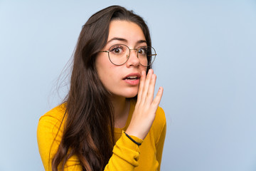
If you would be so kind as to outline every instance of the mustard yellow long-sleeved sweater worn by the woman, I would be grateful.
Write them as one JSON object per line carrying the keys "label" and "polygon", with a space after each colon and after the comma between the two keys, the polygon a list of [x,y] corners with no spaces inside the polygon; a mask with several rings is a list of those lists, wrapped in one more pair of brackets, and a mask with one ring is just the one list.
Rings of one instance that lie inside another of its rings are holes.
{"label": "mustard yellow long-sleeved sweater worn by the woman", "polygon": [[[160,107],[156,110],[156,118],[144,140],[131,136],[137,142],[142,142],[142,145],[138,146],[124,134],[124,130],[127,130],[131,121],[134,107],[135,102],[131,101],[129,117],[124,128],[114,128],[114,135],[117,142],[114,145],[113,155],[106,165],[105,171],[160,170],[161,155],[166,135],[164,110]],[[58,149],[63,135],[65,124],[60,126],[60,123],[63,120],[64,113],[65,105],[59,105],[43,115],[38,123],[38,149],[43,166],[47,171],[51,170],[53,156]],[[58,132],[59,128],[60,130]],[[70,157],[65,164],[64,170],[82,171],[78,157],[75,155]]]}

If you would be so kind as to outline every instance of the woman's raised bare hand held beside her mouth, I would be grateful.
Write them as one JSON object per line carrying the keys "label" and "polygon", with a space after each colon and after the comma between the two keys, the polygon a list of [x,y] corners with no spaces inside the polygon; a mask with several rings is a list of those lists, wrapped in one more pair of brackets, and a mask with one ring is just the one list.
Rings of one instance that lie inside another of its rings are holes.
{"label": "woman's raised bare hand held beside her mouth", "polygon": [[160,87],[156,94],[156,98],[154,98],[155,84],[156,74],[154,74],[154,71],[150,69],[147,76],[146,72],[142,71],[137,103],[135,105],[131,123],[126,130],[128,135],[134,135],[137,138],[144,140],[147,133],[149,133],[164,91],[164,89]]}

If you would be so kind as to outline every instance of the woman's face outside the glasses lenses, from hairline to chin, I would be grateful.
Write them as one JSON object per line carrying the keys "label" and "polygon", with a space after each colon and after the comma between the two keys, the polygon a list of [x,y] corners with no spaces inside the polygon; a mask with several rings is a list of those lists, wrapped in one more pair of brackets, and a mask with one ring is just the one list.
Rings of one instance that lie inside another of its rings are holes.
{"label": "woman's face outside the glasses lenses, from hairline to chin", "polygon": [[[146,38],[137,24],[130,21],[111,21],[107,44],[102,51],[108,51],[115,44],[124,44],[130,49],[146,46]],[[129,59],[122,66],[111,63],[108,54],[100,52],[96,58],[97,74],[112,95],[133,98],[138,93],[139,77],[146,67],[140,65],[137,51],[130,51]]]}

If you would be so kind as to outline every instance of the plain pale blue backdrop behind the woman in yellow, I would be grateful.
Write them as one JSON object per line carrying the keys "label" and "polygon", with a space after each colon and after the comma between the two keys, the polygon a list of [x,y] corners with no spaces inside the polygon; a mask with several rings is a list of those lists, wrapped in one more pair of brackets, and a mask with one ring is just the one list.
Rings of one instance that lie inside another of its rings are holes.
{"label": "plain pale blue backdrop behind the woman in yellow", "polygon": [[256,170],[256,1],[0,0],[0,170],[43,170],[38,119],[81,27],[119,4],[149,25],[167,134],[162,170]]}

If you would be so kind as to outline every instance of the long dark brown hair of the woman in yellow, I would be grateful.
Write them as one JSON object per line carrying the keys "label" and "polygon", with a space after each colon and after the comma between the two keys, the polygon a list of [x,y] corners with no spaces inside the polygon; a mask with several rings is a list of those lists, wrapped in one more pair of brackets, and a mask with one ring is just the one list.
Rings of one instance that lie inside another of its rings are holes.
{"label": "long dark brown hair of the woman in yellow", "polygon": [[[97,53],[107,43],[110,21],[132,21],[144,33],[151,46],[149,28],[142,17],[122,6],[98,11],[82,26],[75,47],[70,90],[64,103],[67,115],[63,138],[52,161],[53,171],[64,170],[68,159],[76,155],[82,170],[104,170],[114,146],[114,116],[110,93],[102,85],[95,68]],[[147,71],[150,67],[147,68]]]}

